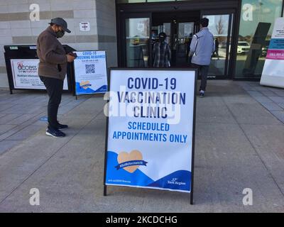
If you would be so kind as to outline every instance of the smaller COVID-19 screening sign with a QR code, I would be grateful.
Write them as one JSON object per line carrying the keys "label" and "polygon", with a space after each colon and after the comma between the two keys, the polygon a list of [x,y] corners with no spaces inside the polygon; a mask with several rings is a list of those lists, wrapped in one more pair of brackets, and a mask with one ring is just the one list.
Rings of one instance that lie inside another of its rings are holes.
{"label": "smaller COVID-19 screening sign with a QR code", "polygon": [[76,51],[75,94],[96,94],[107,92],[106,52]]}

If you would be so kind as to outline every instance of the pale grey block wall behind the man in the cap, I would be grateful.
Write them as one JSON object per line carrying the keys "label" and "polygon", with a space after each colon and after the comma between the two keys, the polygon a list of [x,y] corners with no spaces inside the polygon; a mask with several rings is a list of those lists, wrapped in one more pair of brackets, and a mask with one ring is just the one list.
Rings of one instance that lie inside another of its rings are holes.
{"label": "pale grey block wall behind the man in the cap", "polygon": [[[72,31],[61,43],[75,50],[107,50],[108,66],[117,66],[114,0],[0,0],[0,88],[9,87],[4,45],[35,45],[55,17],[65,18]],[[89,31],[80,31],[81,22],[89,22]]]}

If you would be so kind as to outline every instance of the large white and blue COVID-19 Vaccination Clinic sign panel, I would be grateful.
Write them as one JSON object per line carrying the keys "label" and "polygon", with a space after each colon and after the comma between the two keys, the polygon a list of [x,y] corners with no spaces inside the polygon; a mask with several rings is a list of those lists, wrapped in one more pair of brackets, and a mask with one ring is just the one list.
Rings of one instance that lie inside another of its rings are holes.
{"label": "large white and blue COVID-19 Vaccination Clinic sign panel", "polygon": [[104,185],[192,192],[195,71],[110,70]]}

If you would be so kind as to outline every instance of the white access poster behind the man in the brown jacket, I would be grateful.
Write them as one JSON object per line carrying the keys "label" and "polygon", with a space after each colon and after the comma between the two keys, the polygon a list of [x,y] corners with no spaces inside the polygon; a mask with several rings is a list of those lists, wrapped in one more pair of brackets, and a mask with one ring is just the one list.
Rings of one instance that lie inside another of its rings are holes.
{"label": "white access poster behind the man in the brown jacket", "polygon": [[[38,77],[38,59],[11,59],[13,87],[15,89],[45,89]],[[68,90],[67,76],[63,89]]]}

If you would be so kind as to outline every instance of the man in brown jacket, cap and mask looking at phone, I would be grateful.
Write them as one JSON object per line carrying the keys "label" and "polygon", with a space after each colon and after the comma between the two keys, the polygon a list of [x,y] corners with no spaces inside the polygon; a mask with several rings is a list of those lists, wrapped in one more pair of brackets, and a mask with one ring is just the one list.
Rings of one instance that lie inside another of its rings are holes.
{"label": "man in brown jacket, cap and mask looking at phone", "polygon": [[70,33],[67,22],[62,18],[53,18],[50,26],[40,33],[37,41],[37,54],[40,59],[38,74],[48,92],[48,128],[46,135],[55,138],[65,137],[60,129],[68,128],[58,122],[58,107],[61,102],[63,81],[67,72],[67,62],[74,61],[72,54],[66,55],[62,44],[58,41],[64,33]]}

